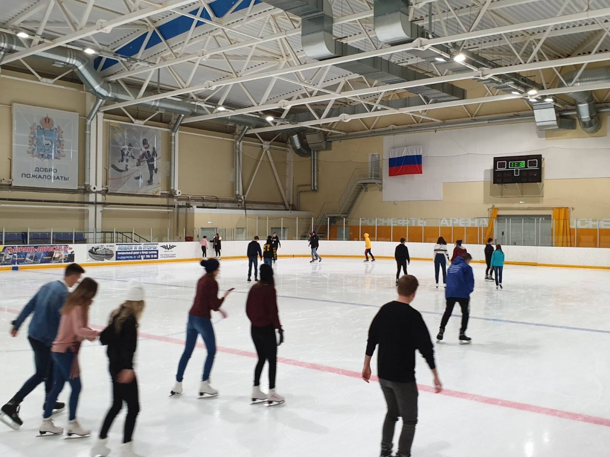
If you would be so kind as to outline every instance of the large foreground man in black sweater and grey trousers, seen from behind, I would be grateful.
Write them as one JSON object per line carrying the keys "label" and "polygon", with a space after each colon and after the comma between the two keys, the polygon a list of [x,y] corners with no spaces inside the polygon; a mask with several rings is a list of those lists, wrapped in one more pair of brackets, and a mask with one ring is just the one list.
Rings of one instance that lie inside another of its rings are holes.
{"label": "large foreground man in black sweater and grey trousers, seen from behind", "polygon": [[422,353],[434,375],[436,392],[442,384],[434,364],[434,347],[422,314],[409,305],[415,298],[417,278],[404,275],[398,281],[398,299],[386,303],[368,329],[367,352],[362,379],[371,378],[371,357],[379,345],[379,384],[386,397],[387,414],[381,438],[381,457],[392,457],[392,439],[398,416],[403,431],[398,440],[396,457],[411,457],[411,445],[417,424],[417,384],[415,383],[415,350]]}

